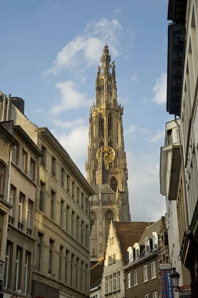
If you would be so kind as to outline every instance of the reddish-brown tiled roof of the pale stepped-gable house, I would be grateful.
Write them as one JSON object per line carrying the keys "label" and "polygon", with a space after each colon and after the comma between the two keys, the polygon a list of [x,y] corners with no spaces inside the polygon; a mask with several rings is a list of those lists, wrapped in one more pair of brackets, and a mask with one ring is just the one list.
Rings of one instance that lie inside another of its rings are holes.
{"label": "reddish-brown tiled roof of the pale stepped-gable house", "polygon": [[127,264],[127,248],[139,242],[149,222],[113,222],[113,224],[120,241],[123,261]]}

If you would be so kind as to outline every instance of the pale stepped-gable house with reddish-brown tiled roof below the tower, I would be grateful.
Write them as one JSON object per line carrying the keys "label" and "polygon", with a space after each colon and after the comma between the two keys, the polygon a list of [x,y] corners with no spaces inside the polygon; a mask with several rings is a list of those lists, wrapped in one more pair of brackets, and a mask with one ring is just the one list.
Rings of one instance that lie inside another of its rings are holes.
{"label": "pale stepped-gable house with reddish-brown tiled roof below the tower", "polygon": [[111,222],[106,246],[101,297],[125,297],[124,271],[127,248],[138,242],[148,222]]}

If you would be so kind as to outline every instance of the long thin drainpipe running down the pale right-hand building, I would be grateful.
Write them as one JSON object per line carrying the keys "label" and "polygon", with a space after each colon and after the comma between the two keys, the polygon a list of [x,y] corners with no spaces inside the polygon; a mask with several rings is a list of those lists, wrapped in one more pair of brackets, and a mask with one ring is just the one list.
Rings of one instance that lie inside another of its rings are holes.
{"label": "long thin drainpipe running down the pale right-hand building", "polygon": [[186,232],[189,234],[189,213],[188,213],[188,204],[187,204],[187,191],[186,191],[186,179],[185,179],[185,167],[184,167],[184,155],[183,155],[183,148],[182,148],[182,142],[181,142],[181,133],[180,133],[180,125],[177,122],[177,118],[175,115],[175,123],[178,127],[179,132],[179,144],[180,144],[180,156],[182,160],[182,180],[183,180],[183,186],[184,186],[184,194],[185,194],[185,209],[186,209]]}

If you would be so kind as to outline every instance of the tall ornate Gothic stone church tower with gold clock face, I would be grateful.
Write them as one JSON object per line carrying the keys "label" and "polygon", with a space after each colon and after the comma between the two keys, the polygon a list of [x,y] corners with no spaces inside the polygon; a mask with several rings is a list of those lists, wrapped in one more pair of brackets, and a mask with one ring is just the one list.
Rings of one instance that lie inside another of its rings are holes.
{"label": "tall ornate Gothic stone church tower with gold clock face", "polygon": [[[96,191],[91,202],[91,260],[105,251],[111,220],[131,220],[128,172],[122,127],[123,107],[117,102],[115,64],[105,44],[96,78],[96,103],[90,109],[87,180]],[[101,150],[102,148],[102,150]]]}

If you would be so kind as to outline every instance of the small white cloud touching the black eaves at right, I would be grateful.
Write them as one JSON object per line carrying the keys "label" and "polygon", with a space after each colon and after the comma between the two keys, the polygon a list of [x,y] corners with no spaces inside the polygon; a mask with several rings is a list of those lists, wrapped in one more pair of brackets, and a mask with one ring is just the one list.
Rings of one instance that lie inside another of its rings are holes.
{"label": "small white cloud touching the black eaves at right", "polygon": [[155,93],[153,101],[158,105],[166,102],[166,85],[167,85],[167,74],[162,73],[160,78],[157,78],[156,84],[153,87]]}

